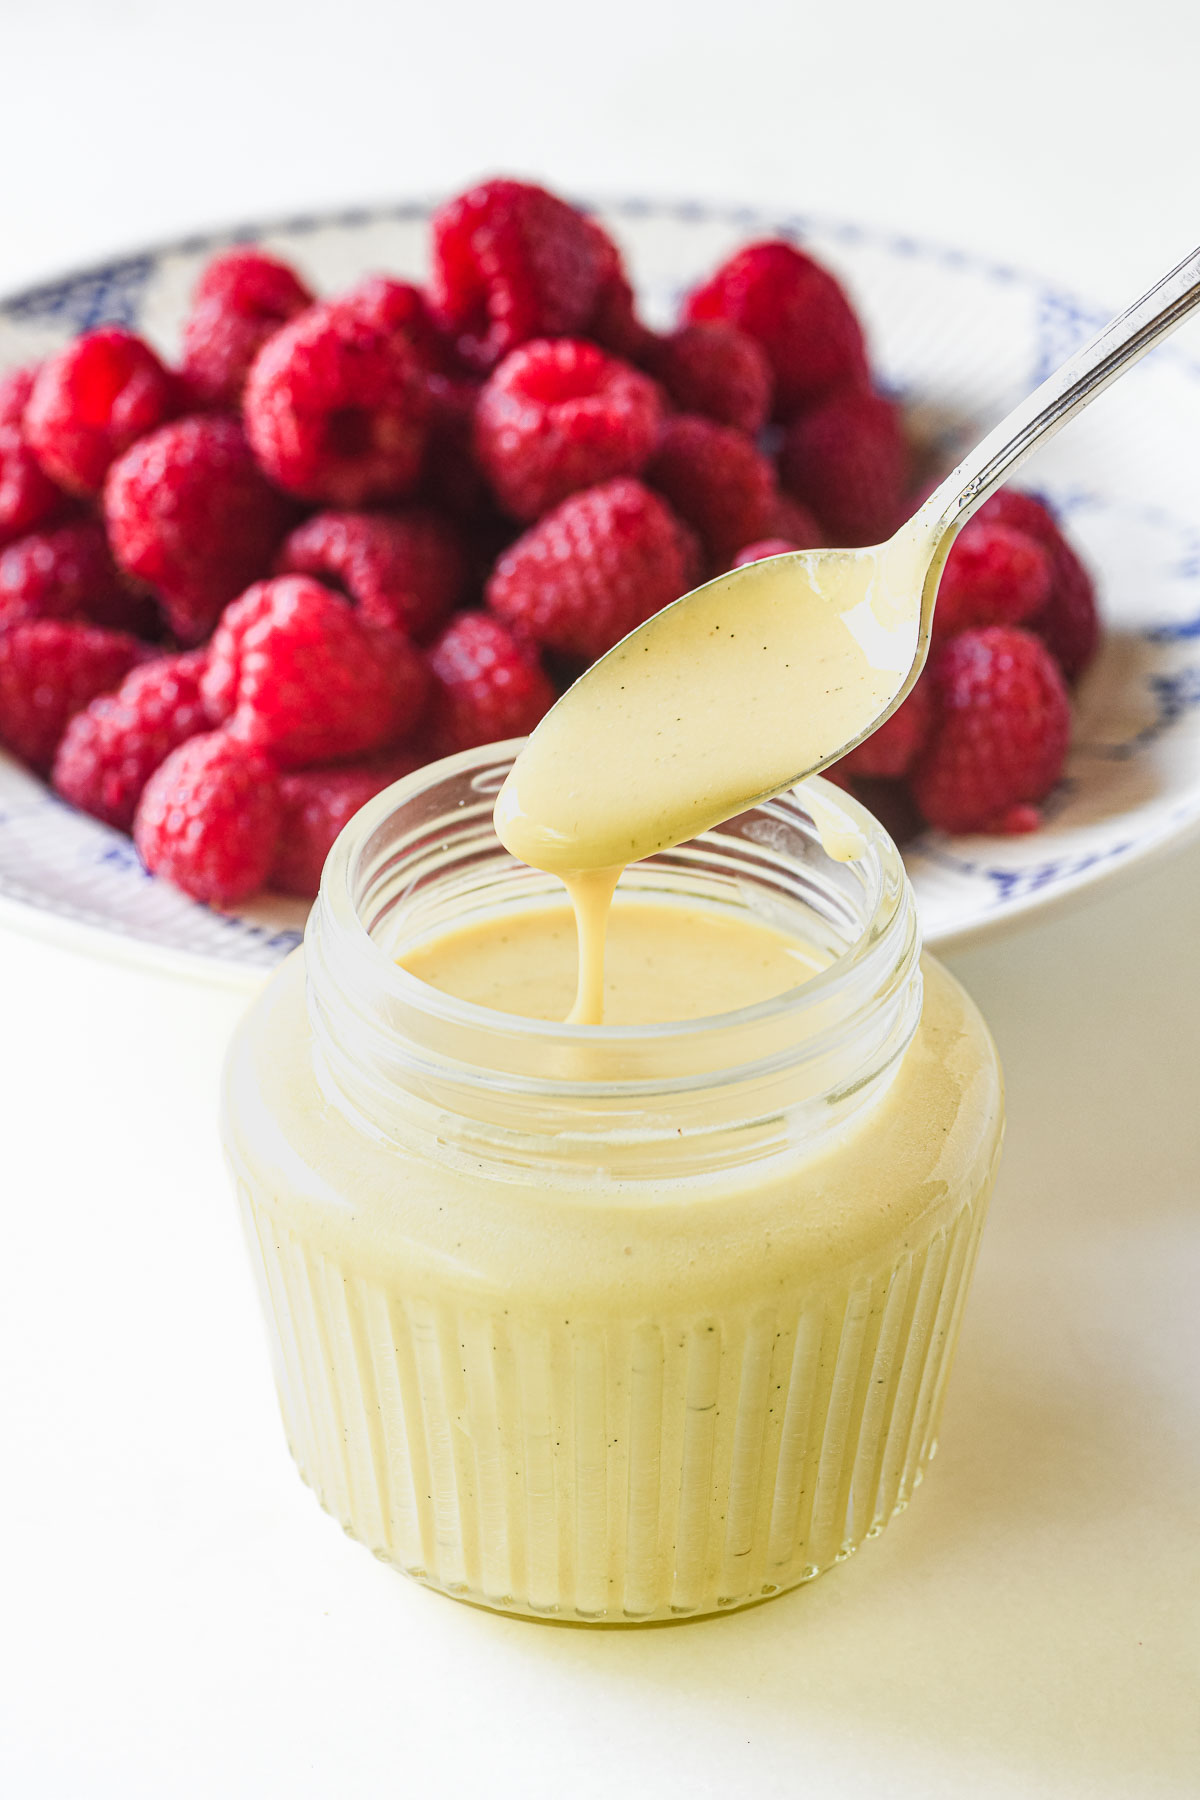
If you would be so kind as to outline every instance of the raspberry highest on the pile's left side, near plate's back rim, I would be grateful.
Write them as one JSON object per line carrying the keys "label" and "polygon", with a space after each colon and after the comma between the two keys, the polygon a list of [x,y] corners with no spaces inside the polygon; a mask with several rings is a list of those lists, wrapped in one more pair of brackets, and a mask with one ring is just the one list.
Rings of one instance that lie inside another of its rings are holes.
{"label": "raspberry highest on the pile's left side, near plate's back rim", "polygon": [[214,256],[184,322],[182,373],[194,403],[237,407],[263,344],[311,304],[295,270],[257,245]]}

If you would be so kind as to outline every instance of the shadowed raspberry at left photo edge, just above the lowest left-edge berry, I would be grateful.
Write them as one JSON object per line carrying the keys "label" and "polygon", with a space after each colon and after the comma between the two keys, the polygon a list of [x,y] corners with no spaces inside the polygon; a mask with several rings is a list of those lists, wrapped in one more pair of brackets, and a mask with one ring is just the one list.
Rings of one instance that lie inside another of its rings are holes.
{"label": "shadowed raspberry at left photo edge, just above the lowest left-edge berry", "polygon": [[0,551],[0,628],[18,619],[90,619],[135,630],[153,608],[121,585],[101,526],[81,518],[31,531]]}

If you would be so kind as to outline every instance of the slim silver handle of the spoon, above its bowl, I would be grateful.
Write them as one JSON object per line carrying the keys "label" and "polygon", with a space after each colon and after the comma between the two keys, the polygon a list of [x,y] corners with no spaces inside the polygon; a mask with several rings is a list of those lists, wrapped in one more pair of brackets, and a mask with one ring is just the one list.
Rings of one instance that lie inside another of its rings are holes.
{"label": "slim silver handle of the spoon, above its bowl", "polygon": [[[954,538],[959,526],[1007,481],[1013,470],[1090,405],[1110,382],[1175,331],[1200,306],[1200,250],[1133,301],[1078,349],[1061,369],[1027,394],[982,443],[954,468],[923,506],[934,531]],[[948,544],[946,544],[948,547]]]}

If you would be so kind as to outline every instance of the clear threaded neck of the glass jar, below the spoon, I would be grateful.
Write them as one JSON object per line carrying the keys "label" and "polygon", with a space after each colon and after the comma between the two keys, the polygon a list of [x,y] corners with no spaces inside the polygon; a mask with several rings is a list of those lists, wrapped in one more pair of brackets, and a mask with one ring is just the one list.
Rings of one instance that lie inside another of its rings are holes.
{"label": "clear threaded neck of the glass jar, below the spoon", "polygon": [[811,797],[864,835],[853,864],[820,850],[804,794],[788,790],[637,866],[666,904],[766,916],[795,905],[784,934],[804,934],[808,909],[829,961],[783,994],[702,1019],[585,1026],[480,1006],[398,961],[405,938],[558,887],[491,828],[522,742],[405,776],[338,837],[306,932],[313,1058],[329,1100],[434,1157],[585,1183],[811,1148],[871,1105],[919,1021],[919,931],[898,850],[826,783]]}

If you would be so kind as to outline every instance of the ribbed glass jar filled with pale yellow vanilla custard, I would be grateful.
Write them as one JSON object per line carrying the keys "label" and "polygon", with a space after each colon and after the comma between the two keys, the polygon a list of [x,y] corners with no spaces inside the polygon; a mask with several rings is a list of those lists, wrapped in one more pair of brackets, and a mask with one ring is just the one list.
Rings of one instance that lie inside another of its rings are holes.
{"label": "ribbed glass jar filled with pale yellow vanilla custard", "polygon": [[396,958],[545,900],[491,830],[516,745],[345,828],[230,1048],[223,1130],[291,1453],[376,1555],[511,1613],[639,1622],[808,1580],[905,1507],[1002,1132],[892,842],[804,788],[633,866],[824,967],[640,1028],[547,1024]]}

